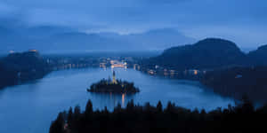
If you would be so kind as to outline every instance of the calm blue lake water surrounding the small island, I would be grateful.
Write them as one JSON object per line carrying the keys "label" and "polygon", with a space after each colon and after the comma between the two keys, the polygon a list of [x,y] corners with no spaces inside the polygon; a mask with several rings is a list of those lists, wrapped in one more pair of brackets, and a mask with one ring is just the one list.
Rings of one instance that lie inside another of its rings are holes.
{"label": "calm blue lake water surrounding the small island", "polygon": [[112,75],[111,69],[101,68],[57,71],[36,82],[0,90],[0,133],[48,133],[59,112],[77,105],[84,109],[88,99],[92,99],[94,109],[107,106],[110,110],[117,103],[125,106],[131,99],[140,105],[156,105],[161,100],[164,106],[172,101],[177,106],[206,110],[234,103],[198,82],[155,77],[133,69],[115,70],[117,78],[134,82],[141,92],[134,96],[86,92],[93,82]]}

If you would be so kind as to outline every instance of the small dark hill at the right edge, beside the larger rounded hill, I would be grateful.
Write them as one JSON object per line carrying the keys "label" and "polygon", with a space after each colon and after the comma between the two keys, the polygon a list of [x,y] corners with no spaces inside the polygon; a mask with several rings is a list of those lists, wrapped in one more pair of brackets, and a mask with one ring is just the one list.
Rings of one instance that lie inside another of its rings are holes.
{"label": "small dark hill at the right edge, beside the larger rounded hill", "polygon": [[267,65],[267,45],[260,46],[255,51],[250,51],[247,56],[257,66]]}

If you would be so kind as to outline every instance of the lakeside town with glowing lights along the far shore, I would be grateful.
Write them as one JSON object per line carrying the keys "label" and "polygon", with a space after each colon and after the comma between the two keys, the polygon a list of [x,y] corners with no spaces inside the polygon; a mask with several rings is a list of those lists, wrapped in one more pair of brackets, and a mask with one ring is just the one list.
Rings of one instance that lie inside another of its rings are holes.
{"label": "lakeside town with glowing lights along the far shore", "polygon": [[46,62],[53,66],[53,70],[62,69],[76,69],[86,67],[100,67],[106,68],[132,68],[141,71],[145,74],[160,75],[170,78],[189,78],[199,79],[207,70],[198,69],[185,69],[183,71],[178,69],[170,69],[163,66],[155,65],[154,67],[147,67],[142,64],[143,60],[149,59],[148,57],[44,57]]}

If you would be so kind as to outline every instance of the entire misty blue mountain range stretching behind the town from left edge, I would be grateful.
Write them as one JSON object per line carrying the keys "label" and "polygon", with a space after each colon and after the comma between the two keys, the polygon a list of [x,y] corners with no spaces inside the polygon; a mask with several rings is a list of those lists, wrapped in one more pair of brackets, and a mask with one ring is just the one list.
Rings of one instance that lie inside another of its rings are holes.
{"label": "entire misty blue mountain range stretching behind the town from left edge", "polygon": [[0,52],[28,51],[149,51],[163,50],[180,43],[195,42],[172,28],[154,29],[131,35],[84,33],[69,27],[0,27]]}

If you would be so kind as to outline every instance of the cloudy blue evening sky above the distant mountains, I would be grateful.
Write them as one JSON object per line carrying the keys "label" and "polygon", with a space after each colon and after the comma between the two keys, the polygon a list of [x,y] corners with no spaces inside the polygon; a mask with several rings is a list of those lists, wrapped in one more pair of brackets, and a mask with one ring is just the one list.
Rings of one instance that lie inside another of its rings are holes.
{"label": "cloudy blue evening sky above the distant mountains", "polygon": [[[246,43],[247,36],[236,33],[252,27],[266,29],[266,9],[265,0],[1,0],[0,18],[18,18],[28,26],[60,25],[118,33],[175,27],[183,34],[196,32],[189,35],[197,39],[203,36],[197,29],[210,29],[214,35],[239,35],[236,40]],[[251,40],[256,43],[257,37]]]}

